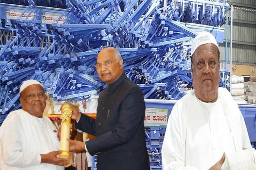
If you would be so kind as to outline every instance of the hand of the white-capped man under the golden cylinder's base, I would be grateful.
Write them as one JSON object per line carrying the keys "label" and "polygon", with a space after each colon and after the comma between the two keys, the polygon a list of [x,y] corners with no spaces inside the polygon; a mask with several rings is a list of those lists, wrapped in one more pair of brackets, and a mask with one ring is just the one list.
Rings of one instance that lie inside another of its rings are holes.
{"label": "hand of the white-capped man under the golden cylinder's base", "polygon": [[69,164],[69,159],[65,158],[58,158],[57,155],[59,155],[62,151],[53,151],[46,154],[40,154],[41,156],[41,164],[53,164],[53,165],[59,165],[59,166],[65,166]]}

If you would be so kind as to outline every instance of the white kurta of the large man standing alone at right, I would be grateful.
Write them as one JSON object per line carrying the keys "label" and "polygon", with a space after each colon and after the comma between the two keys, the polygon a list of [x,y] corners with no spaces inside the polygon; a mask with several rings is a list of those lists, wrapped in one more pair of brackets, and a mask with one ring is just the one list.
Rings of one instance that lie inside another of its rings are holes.
{"label": "white kurta of the large man standing alone at right", "polygon": [[208,170],[224,152],[243,147],[252,148],[243,116],[229,92],[219,88],[217,101],[204,103],[192,91],[176,102],[168,119],[163,170]]}

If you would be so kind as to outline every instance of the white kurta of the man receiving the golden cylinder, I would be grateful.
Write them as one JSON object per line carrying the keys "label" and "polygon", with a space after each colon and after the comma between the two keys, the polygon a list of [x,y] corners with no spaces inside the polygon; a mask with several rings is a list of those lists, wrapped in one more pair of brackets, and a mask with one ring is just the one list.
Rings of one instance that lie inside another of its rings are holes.
{"label": "white kurta of the man receiving the golden cylinder", "polygon": [[57,130],[48,117],[37,118],[22,109],[13,111],[0,127],[0,169],[64,170],[61,166],[41,164],[40,154],[59,147]]}

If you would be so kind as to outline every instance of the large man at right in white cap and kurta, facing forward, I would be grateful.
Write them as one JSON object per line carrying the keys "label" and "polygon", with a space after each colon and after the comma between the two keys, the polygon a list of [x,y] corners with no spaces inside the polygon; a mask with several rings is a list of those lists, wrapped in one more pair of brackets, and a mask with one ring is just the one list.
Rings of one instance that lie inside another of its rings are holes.
{"label": "large man at right in white cap and kurta, facing forward", "polygon": [[252,148],[243,116],[229,91],[219,87],[219,48],[209,32],[191,47],[194,90],[178,100],[162,146],[163,170],[221,170],[225,154]]}

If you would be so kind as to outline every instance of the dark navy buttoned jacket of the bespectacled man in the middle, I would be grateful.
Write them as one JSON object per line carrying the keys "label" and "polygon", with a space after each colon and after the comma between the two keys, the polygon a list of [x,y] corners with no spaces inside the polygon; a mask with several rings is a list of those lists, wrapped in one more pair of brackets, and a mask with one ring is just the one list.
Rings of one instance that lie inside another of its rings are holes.
{"label": "dark navy buttoned jacket of the bespectacled man in the middle", "polygon": [[97,119],[81,115],[77,129],[96,138],[86,141],[97,155],[97,170],[150,170],[144,133],[145,102],[140,87],[123,73],[99,96]]}

